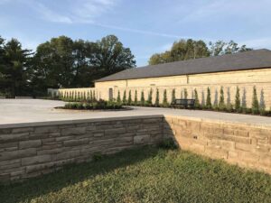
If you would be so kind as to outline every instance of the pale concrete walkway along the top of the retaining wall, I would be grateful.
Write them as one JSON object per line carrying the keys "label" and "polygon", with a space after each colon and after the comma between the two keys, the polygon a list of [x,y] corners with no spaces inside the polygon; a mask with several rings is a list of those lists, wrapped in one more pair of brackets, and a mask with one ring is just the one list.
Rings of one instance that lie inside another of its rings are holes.
{"label": "pale concrete walkway along the top of the retaining wall", "polygon": [[55,109],[62,101],[42,99],[0,99],[0,126],[48,121],[67,121],[136,115],[178,115],[204,120],[271,126],[271,117],[238,115],[211,111],[133,107],[126,111],[77,111]]}

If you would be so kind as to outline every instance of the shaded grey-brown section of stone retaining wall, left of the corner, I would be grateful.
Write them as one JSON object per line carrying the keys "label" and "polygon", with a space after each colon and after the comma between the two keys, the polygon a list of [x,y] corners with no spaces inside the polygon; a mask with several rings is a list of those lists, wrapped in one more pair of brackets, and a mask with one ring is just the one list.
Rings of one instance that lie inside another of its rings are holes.
{"label": "shaded grey-brown section of stone retaining wall, left of the corner", "polygon": [[162,116],[51,122],[0,129],[0,182],[23,180],[90,161],[95,153],[114,153],[163,139]]}

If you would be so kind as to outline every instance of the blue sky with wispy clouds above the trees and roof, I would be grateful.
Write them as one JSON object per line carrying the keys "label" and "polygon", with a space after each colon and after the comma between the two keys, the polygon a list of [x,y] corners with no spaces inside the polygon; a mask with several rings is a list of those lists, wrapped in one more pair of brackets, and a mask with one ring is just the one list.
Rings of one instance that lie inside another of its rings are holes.
{"label": "blue sky with wispy clouds above the trees and roof", "polygon": [[234,40],[271,49],[270,0],[0,0],[0,35],[24,48],[67,35],[115,34],[137,66],[181,38]]}

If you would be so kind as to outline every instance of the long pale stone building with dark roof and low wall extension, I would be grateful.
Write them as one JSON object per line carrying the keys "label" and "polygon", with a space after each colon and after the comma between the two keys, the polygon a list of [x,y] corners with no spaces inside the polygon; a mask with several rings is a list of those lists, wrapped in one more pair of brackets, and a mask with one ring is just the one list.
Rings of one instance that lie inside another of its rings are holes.
{"label": "long pale stone building with dark roof and low wall extension", "polygon": [[197,89],[201,104],[205,104],[207,88],[210,88],[211,101],[219,102],[220,88],[224,90],[226,104],[234,104],[237,87],[241,102],[251,106],[253,87],[257,88],[257,97],[262,106],[271,106],[271,51],[263,49],[246,51],[217,57],[183,60],[137,69],[126,69],[95,82],[95,88],[60,89],[61,95],[74,94],[88,97],[91,91],[97,98],[117,98],[118,92],[123,97],[131,92],[132,99],[140,99],[144,92],[147,99],[153,90],[153,102],[158,89],[160,102],[163,101],[164,89],[168,102],[171,102],[173,89],[176,98],[194,97]]}

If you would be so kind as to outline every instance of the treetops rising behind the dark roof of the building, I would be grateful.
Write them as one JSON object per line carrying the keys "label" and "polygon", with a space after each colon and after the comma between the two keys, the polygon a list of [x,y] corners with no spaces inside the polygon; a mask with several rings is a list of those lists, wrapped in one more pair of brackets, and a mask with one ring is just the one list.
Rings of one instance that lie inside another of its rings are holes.
{"label": "treetops rising behind the dark roof of the building", "polygon": [[152,55],[149,59],[149,65],[156,65],[179,60],[192,60],[251,50],[252,49],[248,48],[246,45],[239,46],[237,42],[233,41],[217,41],[209,42],[209,44],[207,44],[201,40],[180,40],[173,42],[173,45],[169,51],[155,53]]}

